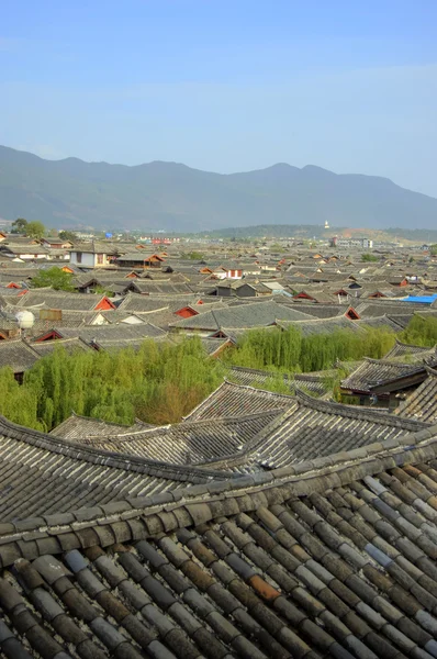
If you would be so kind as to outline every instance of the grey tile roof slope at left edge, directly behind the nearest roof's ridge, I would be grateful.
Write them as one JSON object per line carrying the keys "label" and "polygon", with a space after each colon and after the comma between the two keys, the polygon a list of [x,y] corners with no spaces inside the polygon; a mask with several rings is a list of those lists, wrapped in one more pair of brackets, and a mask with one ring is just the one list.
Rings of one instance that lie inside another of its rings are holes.
{"label": "grey tile roof slope at left edge, directly behind the nearest roof's ridge", "polygon": [[0,417],[2,521],[164,492],[217,473],[67,443]]}

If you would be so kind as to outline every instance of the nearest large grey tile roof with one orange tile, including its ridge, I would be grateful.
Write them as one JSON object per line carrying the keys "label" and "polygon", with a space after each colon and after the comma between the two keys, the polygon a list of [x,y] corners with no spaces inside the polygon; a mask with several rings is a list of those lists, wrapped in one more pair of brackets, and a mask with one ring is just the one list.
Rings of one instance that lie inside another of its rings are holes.
{"label": "nearest large grey tile roof with one orange tile, including its ridge", "polygon": [[0,647],[16,659],[429,659],[436,455],[427,431],[258,480],[3,524]]}

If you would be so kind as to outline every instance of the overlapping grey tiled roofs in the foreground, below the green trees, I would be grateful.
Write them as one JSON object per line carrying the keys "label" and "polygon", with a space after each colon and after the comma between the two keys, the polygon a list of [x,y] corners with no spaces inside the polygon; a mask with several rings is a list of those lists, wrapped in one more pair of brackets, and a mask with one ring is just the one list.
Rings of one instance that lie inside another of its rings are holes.
{"label": "overlapping grey tiled roofs in the foreground, below the green trees", "polygon": [[225,381],[170,426],[0,420],[1,651],[436,657],[425,383],[397,414]]}

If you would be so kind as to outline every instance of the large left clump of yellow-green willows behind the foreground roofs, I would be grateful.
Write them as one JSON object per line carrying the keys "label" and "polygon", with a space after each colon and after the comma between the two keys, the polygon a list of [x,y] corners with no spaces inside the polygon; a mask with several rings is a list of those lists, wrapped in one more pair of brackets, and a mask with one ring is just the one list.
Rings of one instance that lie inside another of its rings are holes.
{"label": "large left clump of yellow-green willows behind the foreground roofs", "polygon": [[222,381],[224,367],[209,359],[199,338],[179,345],[148,339],[135,351],[76,351],[63,347],[40,359],[18,386],[0,369],[0,414],[51,431],[71,414],[108,422],[181,421]]}

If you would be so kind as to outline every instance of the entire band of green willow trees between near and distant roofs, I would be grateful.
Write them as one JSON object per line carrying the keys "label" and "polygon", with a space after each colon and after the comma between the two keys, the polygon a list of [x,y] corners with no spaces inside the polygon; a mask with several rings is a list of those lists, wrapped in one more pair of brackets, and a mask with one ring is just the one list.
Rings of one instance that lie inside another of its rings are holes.
{"label": "entire band of green willow trees between near and distant roofs", "polygon": [[[414,316],[397,337],[434,346],[437,320]],[[68,354],[63,347],[55,347],[52,355],[24,373],[22,386],[10,368],[0,369],[0,414],[43,431],[53,429],[71,410],[121,424],[132,424],[135,417],[153,424],[176,423],[204,400],[225,375],[232,378],[228,366],[233,365],[269,370],[271,378],[262,389],[283,393],[289,392],[283,373],[336,367],[337,377],[326,372],[326,390],[334,387],[337,398],[336,388],[346,373],[337,360],[379,359],[394,340],[394,333],[383,328],[311,336],[303,336],[295,327],[284,332],[253,330],[223,354],[223,361],[209,358],[198,337],[177,345],[146,339],[136,351],[124,348]]]}

